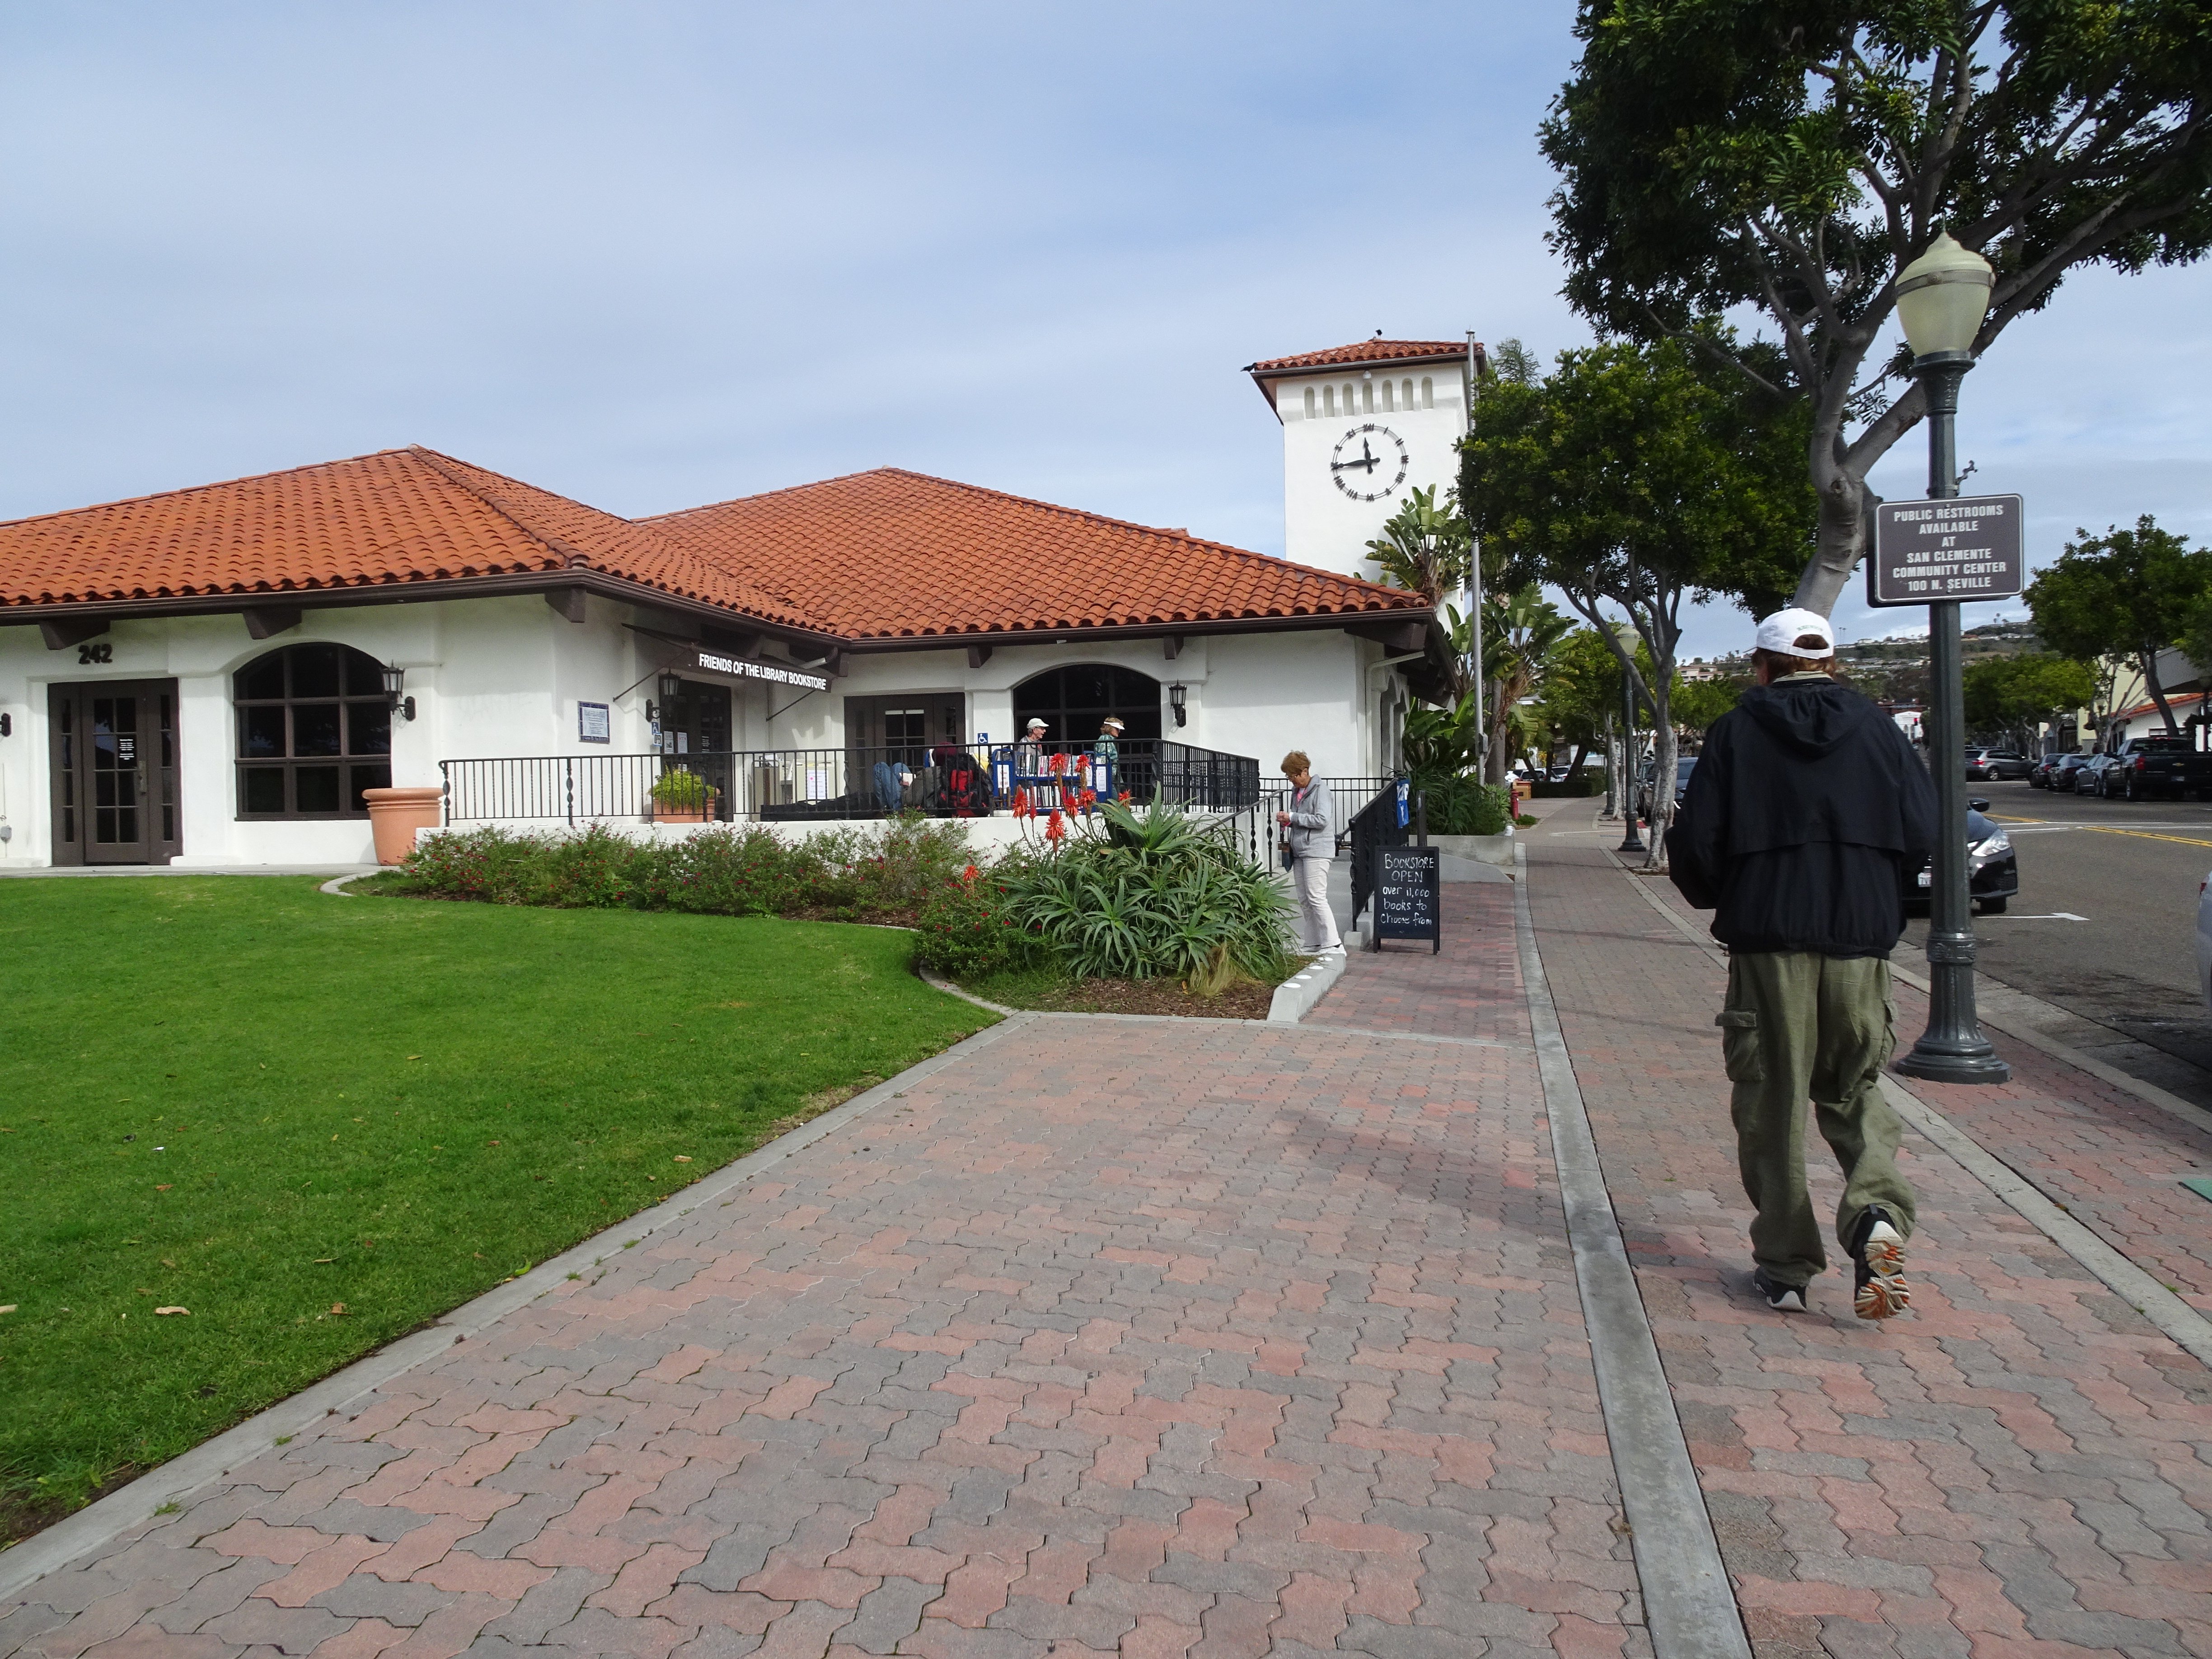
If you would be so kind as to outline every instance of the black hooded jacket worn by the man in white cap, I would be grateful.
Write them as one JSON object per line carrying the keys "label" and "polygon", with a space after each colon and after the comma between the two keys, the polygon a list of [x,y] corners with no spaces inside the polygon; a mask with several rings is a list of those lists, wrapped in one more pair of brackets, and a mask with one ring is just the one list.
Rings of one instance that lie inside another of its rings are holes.
{"label": "black hooded jacket worn by the man in white cap", "polygon": [[1705,732],[1666,849],[1732,951],[1889,956],[1898,867],[1936,847],[1936,783],[1882,710],[1827,675],[1754,686]]}

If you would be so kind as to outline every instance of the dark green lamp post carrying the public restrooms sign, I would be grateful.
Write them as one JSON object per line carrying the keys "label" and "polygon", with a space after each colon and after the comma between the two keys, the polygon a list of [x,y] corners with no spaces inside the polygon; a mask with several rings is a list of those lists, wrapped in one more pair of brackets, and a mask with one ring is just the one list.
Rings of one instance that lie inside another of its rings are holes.
{"label": "dark green lamp post carrying the public restrooms sign", "polygon": [[[1898,321],[1929,405],[1929,500],[1958,495],[1958,385],[1989,314],[1995,272],[1940,234],[1898,272]],[[1973,896],[1966,887],[1966,706],[1958,599],[1929,604],[1929,770],[1936,774],[1936,860],[1929,887],[1929,1026],[1898,1062],[1907,1077],[2002,1084],[2013,1068],[1982,1035],[1973,1006]]]}

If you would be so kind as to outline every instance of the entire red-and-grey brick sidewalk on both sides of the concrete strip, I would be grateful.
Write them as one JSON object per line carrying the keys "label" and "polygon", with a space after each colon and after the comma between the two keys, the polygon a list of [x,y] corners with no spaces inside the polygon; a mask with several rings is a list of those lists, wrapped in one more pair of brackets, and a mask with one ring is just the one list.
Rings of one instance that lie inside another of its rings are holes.
{"label": "entire red-and-grey brick sidewalk on both sides of the concrete strip", "polygon": [[[1721,969],[1575,807],[1301,1026],[1006,1022],[0,1599],[0,1655],[2212,1655],[2212,1374],[1922,1135],[1909,1318],[1752,1298]],[[2212,1144],[2006,1057],[1922,1099],[2212,1305]],[[1637,1332],[1663,1433],[1608,1436]],[[1617,1478],[1668,1438],[1690,1635]]]}

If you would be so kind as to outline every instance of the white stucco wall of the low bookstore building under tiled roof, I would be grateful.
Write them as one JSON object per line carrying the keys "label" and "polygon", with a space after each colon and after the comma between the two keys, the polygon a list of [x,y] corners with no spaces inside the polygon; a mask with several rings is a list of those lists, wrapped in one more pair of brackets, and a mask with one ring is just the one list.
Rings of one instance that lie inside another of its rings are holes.
{"label": "white stucco wall of the low bookstore building under tiled roof", "polygon": [[[0,865],[51,863],[46,688],[58,681],[175,679],[179,695],[179,785],[184,852],[179,865],[345,865],[367,863],[369,825],[341,821],[237,818],[237,734],[232,675],[290,644],[338,641],[407,670],[416,719],[394,721],[392,781],[436,785],[438,761],[509,754],[644,754],[650,748],[646,701],[661,659],[633,635],[628,606],[591,599],[584,624],[560,617],[540,597],[442,599],[356,611],[310,611],[299,628],[257,641],[239,615],[117,622],[100,644],[111,661],[80,664],[80,653],[46,650],[38,628],[0,628],[0,816],[13,830]],[[1159,639],[1110,644],[1000,646],[982,668],[964,648],[854,655],[827,692],[801,697],[790,686],[732,690],[741,748],[841,748],[845,697],[960,692],[967,734],[1013,737],[1013,688],[1044,668],[1104,661],[1135,668],[1161,686],[1161,732],[1201,748],[1250,754],[1263,776],[1287,748],[1305,748],[1325,774],[1385,765],[1378,708],[1394,675],[1374,668],[1380,648],[1338,630],[1188,637],[1175,661]],[[1188,723],[1177,728],[1168,686],[1186,686]],[[613,741],[577,737],[577,701],[611,706]],[[781,712],[779,712],[781,710]],[[774,719],[772,719],[774,712]],[[1060,737],[1091,737],[1073,732]]]}

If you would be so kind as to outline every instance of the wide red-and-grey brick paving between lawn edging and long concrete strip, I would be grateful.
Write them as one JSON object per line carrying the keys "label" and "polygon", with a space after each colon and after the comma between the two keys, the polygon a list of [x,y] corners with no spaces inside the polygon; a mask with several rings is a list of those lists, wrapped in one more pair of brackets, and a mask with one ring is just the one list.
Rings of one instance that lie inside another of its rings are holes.
{"label": "wide red-and-grey brick paving between lawn edging and long concrete strip", "polygon": [[0,1652],[1648,1652],[1520,1048],[1031,1018]]}

